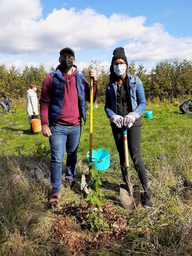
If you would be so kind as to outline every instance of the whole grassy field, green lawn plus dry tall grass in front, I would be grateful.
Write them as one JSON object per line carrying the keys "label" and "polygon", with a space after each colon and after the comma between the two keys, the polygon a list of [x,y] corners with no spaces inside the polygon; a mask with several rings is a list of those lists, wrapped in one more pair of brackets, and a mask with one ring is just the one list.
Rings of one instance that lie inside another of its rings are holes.
{"label": "whole grassy field, green lawn plus dry tall grass in front", "polygon": [[[22,104],[15,114],[0,113],[0,255],[192,255],[192,116],[179,115],[179,102],[148,102],[153,119],[141,117],[141,152],[155,208],[137,211],[123,209],[117,195],[122,183],[118,154],[104,106],[93,110],[93,149],[107,148],[110,167],[101,173],[105,203],[126,219],[127,233],[116,241],[99,247],[87,247],[84,254],[74,252],[70,243],[54,237],[54,213],[47,209],[51,194],[50,156],[35,158],[37,140],[49,144],[40,132],[30,136]],[[82,127],[78,150],[77,180],[88,173],[86,154],[89,150],[89,111]],[[168,158],[157,160],[158,155]],[[132,183],[139,184],[130,159]],[[33,178],[41,169],[43,180]],[[63,161],[65,170],[65,159]],[[63,176],[64,177],[64,176]],[[64,178],[63,178],[64,179]],[[80,194],[63,186],[58,211],[64,204],[79,204]],[[75,231],[73,231],[74,234]],[[78,231],[79,232],[79,231]],[[103,233],[104,230],[100,230]],[[78,236],[87,236],[83,231]],[[73,245],[74,247],[74,245]]]}

